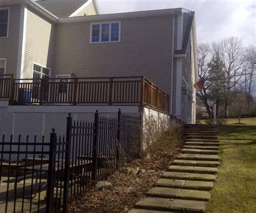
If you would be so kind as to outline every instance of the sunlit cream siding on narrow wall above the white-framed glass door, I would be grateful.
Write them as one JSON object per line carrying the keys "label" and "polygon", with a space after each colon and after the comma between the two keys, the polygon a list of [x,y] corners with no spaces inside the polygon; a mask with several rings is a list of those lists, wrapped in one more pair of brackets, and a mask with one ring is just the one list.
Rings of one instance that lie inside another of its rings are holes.
{"label": "sunlit cream siding on narrow wall above the white-framed glass door", "polygon": [[56,25],[32,8],[26,20],[23,78],[32,78],[32,64],[53,69]]}

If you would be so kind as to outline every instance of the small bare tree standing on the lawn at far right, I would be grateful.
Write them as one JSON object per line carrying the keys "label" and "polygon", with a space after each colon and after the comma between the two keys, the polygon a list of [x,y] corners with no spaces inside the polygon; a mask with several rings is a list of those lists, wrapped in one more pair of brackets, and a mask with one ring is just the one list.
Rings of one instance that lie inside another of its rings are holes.
{"label": "small bare tree standing on the lawn at far right", "polygon": [[241,123],[241,114],[245,112],[247,97],[244,92],[235,92],[233,94],[232,108],[236,115],[238,115],[238,123]]}

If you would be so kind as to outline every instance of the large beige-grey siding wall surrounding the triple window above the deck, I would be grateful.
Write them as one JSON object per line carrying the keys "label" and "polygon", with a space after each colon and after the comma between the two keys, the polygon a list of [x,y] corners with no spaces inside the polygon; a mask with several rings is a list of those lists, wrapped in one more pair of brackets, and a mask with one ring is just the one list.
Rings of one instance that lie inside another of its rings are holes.
{"label": "large beige-grey siding wall surrounding the triple window above the deck", "polygon": [[172,15],[119,20],[121,41],[116,43],[90,44],[90,22],[58,24],[54,74],[145,75],[170,94]]}

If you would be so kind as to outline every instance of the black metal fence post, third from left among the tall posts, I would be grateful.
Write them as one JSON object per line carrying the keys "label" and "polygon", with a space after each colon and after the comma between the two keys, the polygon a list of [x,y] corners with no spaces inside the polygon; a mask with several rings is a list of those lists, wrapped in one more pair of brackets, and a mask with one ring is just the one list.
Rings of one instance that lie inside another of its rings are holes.
{"label": "black metal fence post, third from left among the tall posts", "polygon": [[96,110],[93,126],[93,143],[92,143],[92,180],[97,179],[98,168],[98,137],[99,137],[99,113]]}

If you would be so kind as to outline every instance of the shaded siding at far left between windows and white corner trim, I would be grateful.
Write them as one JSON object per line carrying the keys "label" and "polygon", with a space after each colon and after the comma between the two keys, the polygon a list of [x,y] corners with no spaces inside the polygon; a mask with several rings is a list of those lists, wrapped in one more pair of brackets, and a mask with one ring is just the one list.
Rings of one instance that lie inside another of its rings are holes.
{"label": "shaded siding at far left between windows and white corner trim", "polygon": [[0,38],[0,58],[6,58],[6,74],[17,73],[19,22],[21,16],[21,4],[1,5],[0,8],[10,7],[9,36]]}

